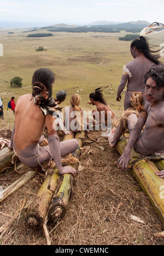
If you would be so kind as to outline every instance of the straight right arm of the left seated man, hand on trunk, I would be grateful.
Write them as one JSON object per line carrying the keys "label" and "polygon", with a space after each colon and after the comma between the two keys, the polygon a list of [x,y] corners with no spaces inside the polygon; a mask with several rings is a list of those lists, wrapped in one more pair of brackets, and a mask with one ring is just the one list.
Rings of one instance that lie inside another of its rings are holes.
{"label": "straight right arm of the left seated man, hand on trunk", "polygon": [[48,130],[48,142],[49,142],[50,152],[54,158],[58,172],[60,172],[61,174],[72,173],[73,176],[75,177],[76,170],[73,167],[71,167],[71,166],[63,167],[62,166],[60,141],[59,141],[56,131],[53,129],[54,121],[55,120],[51,115],[46,115],[45,125]]}

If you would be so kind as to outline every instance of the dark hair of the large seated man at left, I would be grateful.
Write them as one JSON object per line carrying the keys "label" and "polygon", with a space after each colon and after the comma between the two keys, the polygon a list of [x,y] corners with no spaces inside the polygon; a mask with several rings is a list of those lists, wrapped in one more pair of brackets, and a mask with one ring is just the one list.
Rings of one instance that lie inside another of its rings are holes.
{"label": "dark hair of the large seated man at left", "polygon": [[48,92],[48,98],[52,97],[52,86],[55,82],[56,75],[47,68],[37,69],[32,77],[32,96],[40,95],[45,91]]}

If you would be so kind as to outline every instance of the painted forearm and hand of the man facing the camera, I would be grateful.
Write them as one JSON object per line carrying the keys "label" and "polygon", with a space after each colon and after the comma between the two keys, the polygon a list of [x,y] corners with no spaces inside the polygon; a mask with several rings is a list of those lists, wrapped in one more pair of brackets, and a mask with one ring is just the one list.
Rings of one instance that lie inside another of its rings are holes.
{"label": "painted forearm and hand of the man facing the camera", "polygon": [[122,168],[122,170],[127,169],[128,162],[131,159],[131,150],[136,143],[137,139],[140,136],[140,132],[142,131],[142,128],[145,124],[145,119],[142,117],[138,118],[136,126],[134,126],[134,129],[131,132],[130,138],[128,139],[128,143],[126,145],[126,148],[124,149],[124,153],[121,155],[121,157],[118,160],[119,168]]}

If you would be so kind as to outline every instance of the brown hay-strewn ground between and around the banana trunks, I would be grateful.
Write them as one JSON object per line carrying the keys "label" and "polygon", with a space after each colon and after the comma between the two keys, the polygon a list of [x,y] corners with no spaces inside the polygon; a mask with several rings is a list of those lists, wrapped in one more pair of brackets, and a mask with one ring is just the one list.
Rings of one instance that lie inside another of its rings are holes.
{"label": "brown hay-strewn ground between and around the banana trunks", "polygon": [[[118,169],[118,158],[101,132],[86,135],[66,216],[47,224],[51,245],[163,245],[164,238],[154,237],[163,231],[159,216],[132,173]],[[17,177],[8,169],[0,185],[7,187]],[[0,233],[1,245],[46,245],[43,230],[32,229],[26,219],[28,203],[42,183],[37,174],[0,204],[0,230],[12,220],[4,235]],[[144,223],[132,220],[131,214]]]}

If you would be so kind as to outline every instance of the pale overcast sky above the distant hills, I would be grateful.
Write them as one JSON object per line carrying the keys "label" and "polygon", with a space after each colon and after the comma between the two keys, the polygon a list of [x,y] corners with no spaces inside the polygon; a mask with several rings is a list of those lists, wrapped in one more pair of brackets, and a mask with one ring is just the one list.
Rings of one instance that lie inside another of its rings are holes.
{"label": "pale overcast sky above the distant hills", "polygon": [[163,11],[163,0],[0,0],[0,27],[137,20],[164,24]]}

